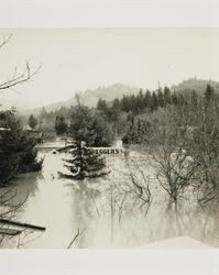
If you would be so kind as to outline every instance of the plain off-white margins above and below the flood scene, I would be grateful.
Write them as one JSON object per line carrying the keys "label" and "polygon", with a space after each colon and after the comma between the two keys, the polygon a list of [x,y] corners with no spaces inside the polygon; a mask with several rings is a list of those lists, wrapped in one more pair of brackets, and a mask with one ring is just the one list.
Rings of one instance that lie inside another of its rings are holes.
{"label": "plain off-white margins above and below the flood scene", "polygon": [[[219,28],[217,0],[1,0],[0,28]],[[218,250],[1,250],[2,275],[218,274]]]}

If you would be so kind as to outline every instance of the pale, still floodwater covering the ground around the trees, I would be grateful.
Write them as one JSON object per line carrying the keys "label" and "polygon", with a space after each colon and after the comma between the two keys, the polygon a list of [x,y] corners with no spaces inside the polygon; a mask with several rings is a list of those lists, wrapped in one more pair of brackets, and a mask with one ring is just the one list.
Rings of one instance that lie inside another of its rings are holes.
{"label": "pale, still floodwater covering the ground around the trees", "polygon": [[[65,170],[66,154],[42,148],[39,157],[45,157],[42,172],[23,174],[14,182],[13,202],[28,199],[13,219],[46,230],[26,229],[4,239],[2,248],[136,248],[178,235],[219,245],[216,213],[200,210],[189,196],[179,207],[180,215],[167,210],[167,194],[156,183],[147,157],[138,161],[133,154],[128,169],[123,155],[108,156],[110,174],[84,182],[58,176]],[[128,172],[135,173],[134,178]],[[133,180],[150,187],[144,199]]]}

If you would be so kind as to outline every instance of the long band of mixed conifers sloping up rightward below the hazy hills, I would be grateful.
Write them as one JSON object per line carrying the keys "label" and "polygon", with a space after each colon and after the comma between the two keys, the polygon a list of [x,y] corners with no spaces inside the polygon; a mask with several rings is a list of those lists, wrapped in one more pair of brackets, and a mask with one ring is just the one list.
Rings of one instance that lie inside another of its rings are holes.
{"label": "long band of mixed conifers sloping up rightward below the hazy hills", "polygon": [[140,89],[138,95],[124,95],[112,102],[99,99],[96,108],[78,105],[47,112],[42,109],[37,118],[32,114],[29,124],[43,131],[45,136],[80,136],[89,146],[109,146],[117,139],[127,144],[141,143],[142,134],[149,131],[151,121],[145,117],[167,106],[180,107],[187,95],[196,91],[172,92],[168,87],[156,91]]}

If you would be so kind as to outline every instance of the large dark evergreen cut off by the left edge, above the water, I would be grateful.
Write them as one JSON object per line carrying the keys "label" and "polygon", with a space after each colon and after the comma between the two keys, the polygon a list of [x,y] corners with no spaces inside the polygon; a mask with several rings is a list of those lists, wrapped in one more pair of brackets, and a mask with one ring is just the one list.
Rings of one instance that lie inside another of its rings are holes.
{"label": "large dark evergreen cut off by the left edge, above the water", "polygon": [[39,170],[36,141],[22,131],[13,111],[0,112],[0,185],[9,184],[19,173]]}

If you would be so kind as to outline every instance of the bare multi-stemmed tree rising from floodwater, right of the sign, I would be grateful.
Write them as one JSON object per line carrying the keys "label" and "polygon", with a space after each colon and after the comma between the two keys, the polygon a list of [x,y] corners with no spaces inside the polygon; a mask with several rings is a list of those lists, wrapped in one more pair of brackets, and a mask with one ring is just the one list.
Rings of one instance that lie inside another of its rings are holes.
{"label": "bare multi-stemmed tree rising from floodwater, right of the sign", "polygon": [[197,164],[190,156],[190,116],[187,107],[168,107],[161,111],[158,123],[151,133],[151,165],[160,185],[177,209],[191,185]]}

